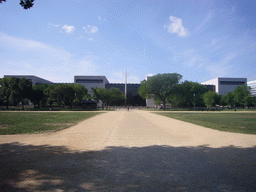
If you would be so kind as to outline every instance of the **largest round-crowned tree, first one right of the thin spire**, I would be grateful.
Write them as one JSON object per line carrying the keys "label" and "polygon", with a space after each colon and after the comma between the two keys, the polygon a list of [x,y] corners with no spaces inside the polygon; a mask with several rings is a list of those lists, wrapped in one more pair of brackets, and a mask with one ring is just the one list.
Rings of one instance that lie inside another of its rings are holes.
{"label": "largest round-crowned tree, first one right of the thin spire", "polygon": [[177,73],[157,74],[146,82],[148,98],[163,102],[164,110],[167,98],[174,93],[174,86],[179,83],[182,76]]}

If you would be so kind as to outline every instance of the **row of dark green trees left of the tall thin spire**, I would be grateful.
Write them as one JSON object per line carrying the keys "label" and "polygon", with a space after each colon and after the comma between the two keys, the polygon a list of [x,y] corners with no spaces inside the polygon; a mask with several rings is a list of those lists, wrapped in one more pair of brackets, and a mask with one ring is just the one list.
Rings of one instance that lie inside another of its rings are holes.
{"label": "row of dark green trees left of the tall thin spire", "polygon": [[88,90],[81,84],[36,84],[32,86],[32,82],[25,78],[2,78],[0,79],[0,105],[17,106],[21,104],[24,110],[28,101],[34,106],[41,108],[55,103],[59,107],[64,105],[81,106],[85,99],[92,98],[95,101],[103,102],[103,105],[110,105],[117,100],[124,99],[124,95],[117,88],[105,90],[104,88],[92,88],[93,97]]}

